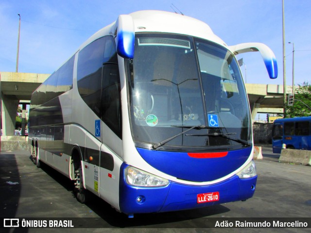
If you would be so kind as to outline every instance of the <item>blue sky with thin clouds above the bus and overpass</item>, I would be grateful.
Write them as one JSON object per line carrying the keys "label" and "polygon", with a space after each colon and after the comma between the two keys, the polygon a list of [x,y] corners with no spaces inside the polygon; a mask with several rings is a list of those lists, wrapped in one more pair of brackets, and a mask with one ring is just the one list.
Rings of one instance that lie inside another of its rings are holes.
{"label": "blue sky with thin clouds above the bus and overpass", "polygon": [[[284,0],[286,80],[311,83],[311,0]],[[21,15],[19,72],[52,73],[93,33],[121,14],[138,10],[173,12],[206,22],[228,45],[260,42],[276,54],[278,78],[270,80],[260,53],[244,53],[246,82],[283,84],[282,0],[1,0],[0,71],[15,71]],[[242,74],[245,75],[242,66]]]}

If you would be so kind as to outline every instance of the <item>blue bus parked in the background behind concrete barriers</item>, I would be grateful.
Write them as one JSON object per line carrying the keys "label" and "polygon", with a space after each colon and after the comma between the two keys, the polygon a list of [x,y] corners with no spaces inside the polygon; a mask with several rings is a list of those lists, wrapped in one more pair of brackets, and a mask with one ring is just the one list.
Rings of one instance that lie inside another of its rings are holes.
{"label": "blue bus parked in the background behind concrete barriers", "polygon": [[281,153],[287,149],[311,150],[311,116],[276,119],[272,128],[272,148]]}

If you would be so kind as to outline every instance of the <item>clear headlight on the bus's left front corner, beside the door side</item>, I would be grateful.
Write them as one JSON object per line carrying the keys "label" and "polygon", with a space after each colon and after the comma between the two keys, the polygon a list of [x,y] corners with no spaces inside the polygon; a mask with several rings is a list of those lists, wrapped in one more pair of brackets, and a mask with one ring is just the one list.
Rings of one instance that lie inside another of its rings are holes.
{"label": "clear headlight on the bus's left front corner, beside the door side", "polygon": [[168,180],[135,168],[128,166],[125,168],[126,183],[141,187],[159,187],[169,183]]}

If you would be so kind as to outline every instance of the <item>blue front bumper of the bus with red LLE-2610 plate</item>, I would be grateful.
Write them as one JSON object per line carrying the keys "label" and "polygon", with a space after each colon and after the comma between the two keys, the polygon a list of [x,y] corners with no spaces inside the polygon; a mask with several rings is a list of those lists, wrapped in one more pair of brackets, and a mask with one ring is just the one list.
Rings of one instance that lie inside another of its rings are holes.
{"label": "blue front bumper of the bus with red LLE-2610 plate", "polygon": [[[138,187],[127,184],[124,174],[121,177],[119,204],[121,212],[127,215],[186,210],[247,200],[254,195],[257,182],[257,176],[240,179],[235,175],[211,185],[186,185],[170,181],[164,187]],[[215,193],[218,194],[218,200],[202,201],[202,196]]]}

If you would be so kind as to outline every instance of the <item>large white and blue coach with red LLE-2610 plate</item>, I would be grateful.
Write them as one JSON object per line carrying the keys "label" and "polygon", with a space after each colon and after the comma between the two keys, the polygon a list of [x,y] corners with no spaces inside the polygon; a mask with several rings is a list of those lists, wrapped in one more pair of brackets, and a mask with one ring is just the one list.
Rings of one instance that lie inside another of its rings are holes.
{"label": "large white and blue coach with red LLE-2610 plate", "polygon": [[128,215],[247,200],[255,192],[249,103],[235,55],[207,24],[162,11],[120,15],[32,95],[34,163]]}

